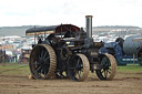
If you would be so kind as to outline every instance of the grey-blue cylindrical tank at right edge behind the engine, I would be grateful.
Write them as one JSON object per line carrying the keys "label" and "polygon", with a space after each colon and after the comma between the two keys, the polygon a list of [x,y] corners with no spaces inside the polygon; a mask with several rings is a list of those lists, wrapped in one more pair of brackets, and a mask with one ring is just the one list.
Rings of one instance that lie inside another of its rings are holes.
{"label": "grey-blue cylindrical tank at right edge behind the engine", "polygon": [[136,54],[141,45],[142,45],[142,35],[128,36],[123,43],[124,54],[125,55]]}

